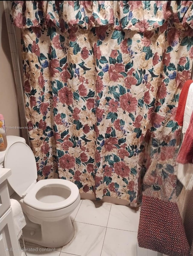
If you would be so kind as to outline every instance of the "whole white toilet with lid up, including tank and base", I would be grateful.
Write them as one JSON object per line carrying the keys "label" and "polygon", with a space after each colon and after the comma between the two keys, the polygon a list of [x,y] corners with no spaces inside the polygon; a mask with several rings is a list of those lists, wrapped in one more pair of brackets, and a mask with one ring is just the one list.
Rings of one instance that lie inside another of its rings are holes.
{"label": "whole white toilet with lid up, including tank and base", "polygon": [[36,182],[35,157],[24,138],[7,136],[7,140],[0,165],[11,169],[8,183],[17,194],[10,196],[20,202],[27,223],[24,240],[51,248],[66,245],[74,235],[70,214],[80,202],[78,187],[63,179]]}

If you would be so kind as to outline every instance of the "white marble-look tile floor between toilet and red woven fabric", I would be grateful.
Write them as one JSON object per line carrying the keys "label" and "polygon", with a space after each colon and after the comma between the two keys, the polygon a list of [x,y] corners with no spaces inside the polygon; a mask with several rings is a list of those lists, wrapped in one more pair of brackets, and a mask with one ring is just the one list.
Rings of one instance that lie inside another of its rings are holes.
{"label": "white marble-look tile floor between toilet and red woven fabric", "polygon": [[128,206],[81,200],[71,215],[75,235],[68,245],[42,251],[25,242],[25,248],[34,248],[27,256],[137,256],[139,215]]}

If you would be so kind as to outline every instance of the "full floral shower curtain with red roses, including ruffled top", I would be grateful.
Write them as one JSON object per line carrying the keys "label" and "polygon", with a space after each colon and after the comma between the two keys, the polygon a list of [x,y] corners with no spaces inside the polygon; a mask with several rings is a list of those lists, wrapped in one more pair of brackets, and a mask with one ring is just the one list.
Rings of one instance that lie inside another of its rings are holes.
{"label": "full floral shower curtain with red roses, including ruffled top", "polygon": [[192,8],[192,1],[12,2],[39,180],[71,180],[96,199],[131,206],[143,187],[147,205],[152,198],[175,205],[175,113],[190,78]]}

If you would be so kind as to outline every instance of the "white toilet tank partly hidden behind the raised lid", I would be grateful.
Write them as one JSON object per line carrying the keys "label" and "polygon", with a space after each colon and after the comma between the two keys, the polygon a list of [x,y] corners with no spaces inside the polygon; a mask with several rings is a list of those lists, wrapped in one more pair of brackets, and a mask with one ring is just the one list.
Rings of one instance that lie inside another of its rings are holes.
{"label": "white toilet tank partly hidden behind the raised lid", "polygon": [[[0,167],[4,167],[4,158],[5,158],[5,153],[8,150],[8,148],[15,142],[24,142],[26,143],[25,139],[22,137],[18,136],[7,136],[7,149],[5,151],[0,151]],[[8,190],[9,190],[9,196],[11,196],[15,191],[11,188],[11,186],[8,184]]]}

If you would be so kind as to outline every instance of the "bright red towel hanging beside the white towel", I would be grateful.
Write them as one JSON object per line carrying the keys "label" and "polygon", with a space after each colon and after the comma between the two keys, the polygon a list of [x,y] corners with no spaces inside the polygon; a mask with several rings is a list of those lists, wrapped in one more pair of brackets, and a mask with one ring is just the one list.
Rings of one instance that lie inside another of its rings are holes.
{"label": "bright red towel hanging beside the white towel", "polygon": [[185,105],[186,105],[186,99],[188,96],[188,90],[189,87],[191,85],[191,83],[193,83],[192,80],[188,79],[182,88],[182,91],[180,93],[180,97],[179,97],[179,103],[178,103],[178,109],[176,111],[176,122],[178,123],[178,125],[182,126],[183,125],[183,120],[184,120],[184,111],[185,111]]}

